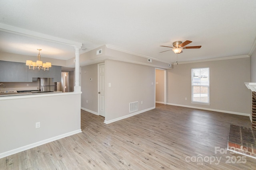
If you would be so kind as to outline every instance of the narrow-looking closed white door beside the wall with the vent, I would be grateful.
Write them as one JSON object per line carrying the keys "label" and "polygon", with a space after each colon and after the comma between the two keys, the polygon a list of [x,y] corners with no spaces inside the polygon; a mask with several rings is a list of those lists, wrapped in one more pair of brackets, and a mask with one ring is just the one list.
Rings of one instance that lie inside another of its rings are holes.
{"label": "narrow-looking closed white door beside the wall with the vent", "polygon": [[99,115],[105,117],[105,64],[98,64],[98,111]]}

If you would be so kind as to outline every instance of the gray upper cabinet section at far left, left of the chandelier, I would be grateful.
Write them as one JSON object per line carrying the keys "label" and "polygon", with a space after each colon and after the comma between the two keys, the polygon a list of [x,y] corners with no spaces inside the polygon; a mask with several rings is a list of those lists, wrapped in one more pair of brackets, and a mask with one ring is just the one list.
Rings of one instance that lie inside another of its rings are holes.
{"label": "gray upper cabinet section at far left, left of the chandelier", "polygon": [[25,63],[0,61],[0,82],[28,82]]}

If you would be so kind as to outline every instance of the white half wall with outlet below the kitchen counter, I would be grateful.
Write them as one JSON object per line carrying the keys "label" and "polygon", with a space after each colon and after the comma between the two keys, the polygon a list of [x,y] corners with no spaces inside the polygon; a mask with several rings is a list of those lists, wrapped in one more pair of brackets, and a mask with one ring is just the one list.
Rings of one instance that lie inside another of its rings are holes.
{"label": "white half wall with outlet below the kitchen counter", "polygon": [[0,158],[80,133],[81,93],[0,97]]}

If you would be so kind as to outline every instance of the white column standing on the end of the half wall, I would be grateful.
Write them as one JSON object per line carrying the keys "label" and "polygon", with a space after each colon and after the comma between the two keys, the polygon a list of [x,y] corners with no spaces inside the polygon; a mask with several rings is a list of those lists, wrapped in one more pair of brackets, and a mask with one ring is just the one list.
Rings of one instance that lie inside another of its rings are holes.
{"label": "white column standing on the end of the half wall", "polygon": [[76,54],[76,67],[75,67],[75,92],[81,92],[80,86],[80,48],[75,47],[75,54]]}

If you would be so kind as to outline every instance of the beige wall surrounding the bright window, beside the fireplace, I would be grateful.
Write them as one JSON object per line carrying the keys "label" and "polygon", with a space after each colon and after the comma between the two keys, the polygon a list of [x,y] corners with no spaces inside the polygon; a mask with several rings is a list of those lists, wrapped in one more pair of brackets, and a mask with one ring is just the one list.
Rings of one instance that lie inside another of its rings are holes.
{"label": "beige wall surrounding the bright window, beside the fireplace", "polygon": [[[191,104],[191,68],[210,68],[210,106]],[[178,64],[167,71],[169,104],[250,114],[250,58]],[[185,100],[187,98],[188,100]]]}

